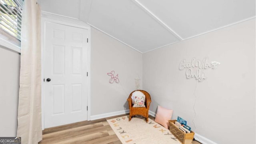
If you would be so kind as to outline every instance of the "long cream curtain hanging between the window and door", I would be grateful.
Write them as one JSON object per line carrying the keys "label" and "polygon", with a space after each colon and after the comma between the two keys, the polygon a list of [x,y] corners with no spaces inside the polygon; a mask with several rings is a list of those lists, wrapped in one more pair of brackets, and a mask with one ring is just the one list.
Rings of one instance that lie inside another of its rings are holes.
{"label": "long cream curtain hanging between the window and door", "polygon": [[20,52],[18,130],[22,144],[42,140],[41,10],[36,0],[24,0]]}

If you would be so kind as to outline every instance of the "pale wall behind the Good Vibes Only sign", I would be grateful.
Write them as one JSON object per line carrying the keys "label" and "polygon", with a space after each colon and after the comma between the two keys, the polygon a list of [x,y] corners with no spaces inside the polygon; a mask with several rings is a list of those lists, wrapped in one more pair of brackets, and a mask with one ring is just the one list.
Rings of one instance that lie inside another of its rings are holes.
{"label": "pale wall behind the Good Vibes Only sign", "polygon": [[[221,64],[196,82],[179,70],[183,59],[192,58]],[[143,54],[150,110],[173,109],[172,119],[181,116],[218,144],[255,144],[255,74],[255,19]]]}

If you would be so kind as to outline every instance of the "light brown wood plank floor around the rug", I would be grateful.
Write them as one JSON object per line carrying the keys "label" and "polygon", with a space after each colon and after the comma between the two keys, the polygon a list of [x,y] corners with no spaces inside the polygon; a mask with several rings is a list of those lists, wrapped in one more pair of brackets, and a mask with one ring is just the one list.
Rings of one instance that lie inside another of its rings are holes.
{"label": "light brown wood plank floor around the rug", "polygon": [[[38,144],[122,144],[106,120],[125,115],[128,114],[46,128]],[[154,120],[153,116],[149,118]]]}

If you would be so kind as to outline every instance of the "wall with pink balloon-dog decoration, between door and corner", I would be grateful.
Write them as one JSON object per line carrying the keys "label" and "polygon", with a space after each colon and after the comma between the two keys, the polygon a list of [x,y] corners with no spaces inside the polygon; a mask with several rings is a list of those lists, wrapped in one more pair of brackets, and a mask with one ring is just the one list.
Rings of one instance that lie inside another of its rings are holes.
{"label": "wall with pink balloon-dog decoration, between door and corner", "polygon": [[[109,83],[114,70],[120,83]],[[142,54],[114,38],[91,29],[91,116],[128,110],[134,79],[142,81]],[[140,84],[142,88],[142,84]]]}

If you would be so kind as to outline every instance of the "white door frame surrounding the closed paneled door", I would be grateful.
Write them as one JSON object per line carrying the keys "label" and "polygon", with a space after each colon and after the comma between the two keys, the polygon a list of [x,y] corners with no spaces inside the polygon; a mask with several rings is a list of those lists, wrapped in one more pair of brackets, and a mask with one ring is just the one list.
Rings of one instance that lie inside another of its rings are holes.
{"label": "white door frame surrounding the closed paneled door", "polygon": [[60,16],[57,14],[52,14],[49,12],[41,12],[41,46],[42,46],[42,70],[41,70],[41,74],[42,74],[42,130],[44,130],[44,108],[45,108],[45,93],[44,93],[44,55],[45,55],[45,23],[46,22],[53,22],[53,23],[57,23],[57,24],[62,24],[62,25],[66,25],[66,26],[72,26],[72,27],[76,27],[76,28],[83,28],[88,30],[88,80],[87,80],[87,88],[88,88],[88,94],[87,94],[87,106],[88,106],[88,110],[87,110],[87,120],[91,120],[90,116],[91,116],[91,45],[90,45],[90,40],[91,40],[91,27],[86,24],[85,22],[82,22],[78,19],[75,18],[70,18],[70,17],[66,17],[66,16]]}

